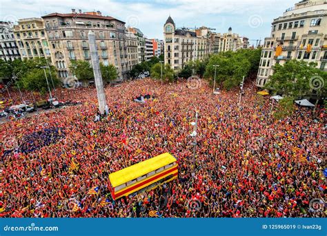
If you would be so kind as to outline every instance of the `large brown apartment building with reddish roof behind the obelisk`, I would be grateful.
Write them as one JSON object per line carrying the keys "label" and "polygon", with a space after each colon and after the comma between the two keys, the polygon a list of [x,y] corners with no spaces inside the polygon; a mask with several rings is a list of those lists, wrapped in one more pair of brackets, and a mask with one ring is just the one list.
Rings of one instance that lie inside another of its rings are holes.
{"label": "large brown apartment building with reddish roof behind the obelisk", "polygon": [[88,32],[95,32],[99,61],[115,65],[118,78],[127,78],[128,46],[125,22],[103,16],[101,12],[52,13],[42,17],[50,43],[52,63],[59,77],[73,76],[69,70],[72,61],[90,60]]}

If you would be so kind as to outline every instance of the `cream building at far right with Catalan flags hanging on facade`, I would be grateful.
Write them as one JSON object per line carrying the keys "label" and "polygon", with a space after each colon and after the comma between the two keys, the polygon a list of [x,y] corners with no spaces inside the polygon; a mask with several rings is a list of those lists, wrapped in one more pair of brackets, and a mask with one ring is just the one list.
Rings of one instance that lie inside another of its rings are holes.
{"label": "cream building at far right with Catalan flags hanging on facade", "polygon": [[274,19],[262,48],[257,87],[264,87],[273,65],[291,59],[315,62],[327,71],[327,1],[304,0]]}

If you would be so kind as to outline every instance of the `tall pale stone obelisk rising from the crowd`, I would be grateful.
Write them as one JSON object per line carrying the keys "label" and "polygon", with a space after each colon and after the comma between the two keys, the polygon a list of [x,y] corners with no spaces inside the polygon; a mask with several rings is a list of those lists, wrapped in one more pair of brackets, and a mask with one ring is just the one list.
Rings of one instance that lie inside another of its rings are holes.
{"label": "tall pale stone obelisk rising from the crowd", "polygon": [[104,93],[103,89],[97,43],[95,42],[95,33],[91,30],[88,32],[88,43],[90,43],[91,64],[93,67],[93,73],[95,74],[95,87],[97,88],[99,111],[103,115],[106,111],[106,94]]}

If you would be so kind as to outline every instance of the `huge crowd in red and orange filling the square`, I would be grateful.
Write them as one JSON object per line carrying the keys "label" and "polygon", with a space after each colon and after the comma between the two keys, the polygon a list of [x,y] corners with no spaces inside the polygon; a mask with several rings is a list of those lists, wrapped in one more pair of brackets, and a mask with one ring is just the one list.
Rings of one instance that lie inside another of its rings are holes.
{"label": "huge crowd in red and orange filling the square", "polygon": [[[327,193],[322,108],[276,120],[250,84],[238,104],[237,90],[214,95],[206,81],[145,79],[106,88],[108,115],[95,121],[94,88],[60,93],[81,105],[1,125],[1,217],[326,217],[310,208]],[[110,200],[110,173],[166,152],[177,180]]]}

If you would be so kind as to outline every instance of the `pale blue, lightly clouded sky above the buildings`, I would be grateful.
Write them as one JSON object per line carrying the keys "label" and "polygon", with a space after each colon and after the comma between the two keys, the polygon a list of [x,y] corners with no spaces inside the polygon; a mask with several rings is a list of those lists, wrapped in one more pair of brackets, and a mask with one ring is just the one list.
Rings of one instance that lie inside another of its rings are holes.
{"label": "pale blue, lightly clouded sky above the buildings", "polygon": [[205,25],[215,32],[247,36],[250,44],[270,36],[271,22],[299,0],[0,0],[0,21],[41,17],[53,12],[99,10],[139,28],[149,39],[163,39],[169,15],[177,28]]}

